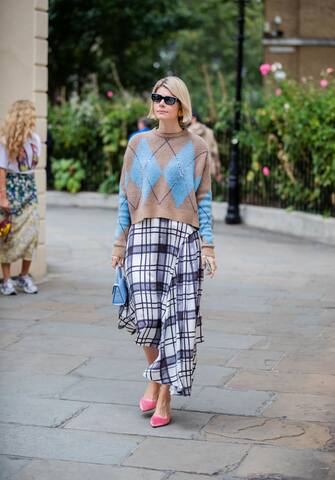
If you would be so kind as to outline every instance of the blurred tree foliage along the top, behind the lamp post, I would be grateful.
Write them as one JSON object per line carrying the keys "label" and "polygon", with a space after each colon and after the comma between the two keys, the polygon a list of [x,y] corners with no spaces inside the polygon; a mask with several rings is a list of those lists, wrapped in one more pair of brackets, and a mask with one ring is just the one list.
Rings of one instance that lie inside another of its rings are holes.
{"label": "blurred tree foliage along the top, behind the lamp post", "polygon": [[[175,74],[213,122],[235,84],[237,14],[235,0],[50,0],[50,96],[90,81],[142,95]],[[247,3],[245,19],[244,84],[259,89],[263,2]]]}

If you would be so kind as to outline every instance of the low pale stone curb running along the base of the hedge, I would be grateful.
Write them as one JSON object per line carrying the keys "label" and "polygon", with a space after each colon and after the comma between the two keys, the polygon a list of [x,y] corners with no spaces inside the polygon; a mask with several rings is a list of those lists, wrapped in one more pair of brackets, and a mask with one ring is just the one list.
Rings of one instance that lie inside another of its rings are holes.
{"label": "low pale stone curb running along the base of the hedge", "polygon": [[[118,195],[104,195],[95,192],[56,192],[46,193],[47,205],[53,207],[118,208]],[[224,221],[227,202],[213,202],[213,218]],[[293,235],[335,246],[335,218],[298,211],[288,212],[281,208],[240,205],[240,215],[244,225],[270,232]]]}

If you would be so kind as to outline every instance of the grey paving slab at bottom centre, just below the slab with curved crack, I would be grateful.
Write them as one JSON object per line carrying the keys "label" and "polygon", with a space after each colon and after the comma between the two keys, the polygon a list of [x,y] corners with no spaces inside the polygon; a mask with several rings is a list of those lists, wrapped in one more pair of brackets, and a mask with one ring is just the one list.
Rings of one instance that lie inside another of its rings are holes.
{"label": "grey paving slab at bottom centre, just below the slab with curved crack", "polygon": [[124,460],[123,465],[190,473],[230,471],[247,454],[249,447],[195,440],[148,438]]}

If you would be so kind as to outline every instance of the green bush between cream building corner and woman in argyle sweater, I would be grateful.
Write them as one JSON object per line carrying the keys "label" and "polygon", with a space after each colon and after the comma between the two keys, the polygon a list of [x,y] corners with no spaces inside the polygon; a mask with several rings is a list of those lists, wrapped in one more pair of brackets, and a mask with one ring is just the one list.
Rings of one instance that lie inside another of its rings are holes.
{"label": "green bush between cream building corner and woman in argyle sweater", "polygon": [[[139,98],[125,95],[107,100],[93,93],[50,106],[53,156],[77,160],[85,172],[82,190],[115,193],[128,136],[147,111],[146,102]],[[56,177],[55,188],[64,188]]]}

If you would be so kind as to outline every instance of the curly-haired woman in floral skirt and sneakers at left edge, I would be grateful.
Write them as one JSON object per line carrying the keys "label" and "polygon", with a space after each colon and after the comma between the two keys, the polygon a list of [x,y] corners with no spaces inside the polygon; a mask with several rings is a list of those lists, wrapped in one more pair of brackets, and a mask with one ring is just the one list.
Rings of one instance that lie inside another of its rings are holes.
{"label": "curly-haired woman in floral skirt and sneakers at left edge", "polygon": [[[0,236],[1,293],[15,295],[17,289],[37,293],[29,275],[38,241],[38,205],[34,169],[41,150],[35,132],[36,110],[29,100],[15,102],[0,130],[0,220],[8,216],[12,225],[7,238]],[[11,264],[22,260],[17,281],[11,279]]]}

